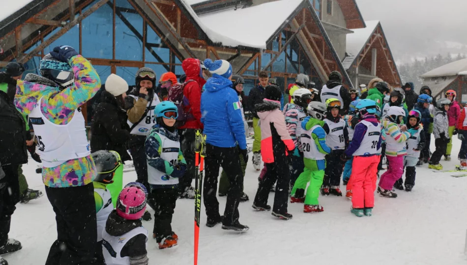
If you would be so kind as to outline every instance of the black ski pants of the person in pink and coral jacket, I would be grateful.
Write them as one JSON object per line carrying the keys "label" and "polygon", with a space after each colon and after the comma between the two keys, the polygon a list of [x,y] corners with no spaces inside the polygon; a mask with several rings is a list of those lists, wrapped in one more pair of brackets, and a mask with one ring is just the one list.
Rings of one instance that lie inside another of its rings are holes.
{"label": "black ski pants of the person in pink and coral jacket", "polygon": [[272,211],[280,214],[287,213],[287,203],[289,200],[290,168],[287,158],[274,157],[273,163],[265,163],[266,174],[260,179],[258,191],[255,196],[255,205],[264,207],[267,205],[267,199],[272,185],[276,183],[276,192],[274,194],[274,205]]}

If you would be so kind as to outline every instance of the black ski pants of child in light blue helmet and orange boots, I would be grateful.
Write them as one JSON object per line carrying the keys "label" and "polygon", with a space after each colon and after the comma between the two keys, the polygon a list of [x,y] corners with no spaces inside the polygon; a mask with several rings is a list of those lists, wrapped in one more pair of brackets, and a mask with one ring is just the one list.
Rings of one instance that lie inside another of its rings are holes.
{"label": "black ski pants of child in light blue helmet and orange boots", "polygon": [[172,215],[178,198],[177,187],[162,188],[159,185],[151,185],[151,193],[154,198],[154,229],[158,243],[163,238],[172,235]]}

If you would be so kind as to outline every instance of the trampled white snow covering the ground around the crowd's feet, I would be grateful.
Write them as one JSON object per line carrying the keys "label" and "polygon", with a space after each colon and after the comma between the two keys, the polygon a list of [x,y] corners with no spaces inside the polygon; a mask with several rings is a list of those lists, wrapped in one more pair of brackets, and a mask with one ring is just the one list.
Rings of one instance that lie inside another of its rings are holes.
{"label": "trampled white snow covering the ground around the crowd's feet", "polygon": [[[459,164],[459,148],[460,141],[455,138],[452,161],[441,161],[445,170]],[[29,159],[23,168],[29,186],[44,191],[41,177],[34,172],[36,163]],[[250,162],[245,177],[250,201],[239,207],[240,221],[250,231],[237,234],[220,226],[207,228],[202,206],[199,264],[465,265],[467,177],[453,178],[452,174],[435,173],[427,165],[417,167],[413,191],[398,191],[396,199],[376,196],[372,217],[358,218],[350,213],[350,201],[329,196],[320,198],[322,213],[306,214],[302,212],[303,205],[289,204],[293,219],[283,221],[270,212],[254,212],[251,208],[258,173]],[[135,172],[125,173],[125,182],[135,179]],[[270,204],[273,196],[271,193]],[[222,210],[226,199],[219,201]],[[179,245],[159,250],[150,238],[149,264],[193,263],[193,218],[194,201],[178,200],[173,230],[180,238]],[[152,232],[152,221],[144,225]],[[3,256],[10,265],[45,263],[57,236],[55,215],[45,195],[29,204],[17,205],[9,236],[23,244],[22,250]]]}

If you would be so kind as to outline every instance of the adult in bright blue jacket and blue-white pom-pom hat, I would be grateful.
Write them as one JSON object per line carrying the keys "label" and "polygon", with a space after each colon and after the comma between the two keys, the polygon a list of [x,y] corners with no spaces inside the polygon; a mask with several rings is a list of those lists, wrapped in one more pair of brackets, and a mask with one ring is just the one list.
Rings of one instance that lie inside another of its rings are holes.
{"label": "adult in bright blue jacket and blue-white pom-pom hat", "polygon": [[[247,231],[248,226],[239,223],[238,204],[242,195],[243,173],[239,153],[248,161],[245,128],[238,96],[232,89],[232,66],[228,61],[204,60],[204,66],[212,74],[204,85],[201,95],[201,122],[206,134],[205,180],[203,185],[207,227],[222,222],[222,229]],[[224,216],[219,214],[217,178],[219,167],[227,173],[230,189]]]}

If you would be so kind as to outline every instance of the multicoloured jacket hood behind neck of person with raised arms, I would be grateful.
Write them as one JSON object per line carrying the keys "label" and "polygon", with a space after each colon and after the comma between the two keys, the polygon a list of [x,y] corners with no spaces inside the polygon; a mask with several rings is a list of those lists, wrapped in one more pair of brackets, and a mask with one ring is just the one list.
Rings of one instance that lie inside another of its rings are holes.
{"label": "multicoloured jacket hood behind neck of person with raised arms", "polygon": [[[29,112],[34,108],[37,101],[45,95],[57,94],[60,92],[58,85],[44,77],[28,74],[24,80],[18,80],[16,83],[15,98],[16,107],[27,109]],[[21,100],[27,98],[27,100]]]}

